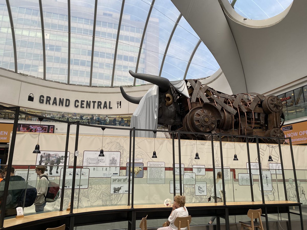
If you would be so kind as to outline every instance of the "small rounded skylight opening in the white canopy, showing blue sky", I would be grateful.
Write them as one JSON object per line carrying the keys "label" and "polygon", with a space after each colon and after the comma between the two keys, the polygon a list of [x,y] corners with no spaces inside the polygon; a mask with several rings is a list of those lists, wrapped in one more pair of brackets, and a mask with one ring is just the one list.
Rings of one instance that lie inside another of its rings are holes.
{"label": "small rounded skylight opening in the white canopy, showing blue sky", "polygon": [[234,9],[248,19],[262,20],[282,13],[292,2],[293,0],[237,0]]}

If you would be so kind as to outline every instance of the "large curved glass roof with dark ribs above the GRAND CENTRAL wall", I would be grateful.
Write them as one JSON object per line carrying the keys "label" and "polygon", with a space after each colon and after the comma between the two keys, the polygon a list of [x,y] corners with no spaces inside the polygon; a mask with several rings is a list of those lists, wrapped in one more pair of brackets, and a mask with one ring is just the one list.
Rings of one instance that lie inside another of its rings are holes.
{"label": "large curved glass roof with dark ribs above the GRAND CENTRAL wall", "polygon": [[147,83],[134,79],[129,70],[181,80],[208,77],[219,69],[170,0],[9,3],[0,0],[4,69],[56,82],[111,87]]}

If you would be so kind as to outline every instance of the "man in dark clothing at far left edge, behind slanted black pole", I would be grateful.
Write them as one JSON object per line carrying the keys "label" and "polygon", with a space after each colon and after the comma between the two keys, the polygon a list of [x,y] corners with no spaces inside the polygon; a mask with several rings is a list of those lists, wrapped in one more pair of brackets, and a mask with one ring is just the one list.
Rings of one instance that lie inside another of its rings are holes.
{"label": "man in dark clothing at far left edge, behind slanted black pole", "polygon": [[[7,167],[3,170],[3,175],[6,175]],[[9,191],[6,198],[6,212],[5,216],[14,216],[17,215],[16,208],[19,205],[19,197],[21,196],[21,192],[25,188],[25,179],[21,176],[15,176],[15,169],[11,167],[10,171],[10,186]],[[5,179],[0,182],[0,198],[3,196]],[[4,201],[1,199],[1,205]]]}

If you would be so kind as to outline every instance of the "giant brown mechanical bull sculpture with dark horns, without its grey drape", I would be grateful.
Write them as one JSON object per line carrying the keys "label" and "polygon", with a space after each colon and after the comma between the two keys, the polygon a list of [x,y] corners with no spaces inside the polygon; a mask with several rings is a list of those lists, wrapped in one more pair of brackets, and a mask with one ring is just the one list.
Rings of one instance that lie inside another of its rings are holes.
{"label": "giant brown mechanical bull sculpture with dark horns, without its grey drape", "polygon": [[[227,95],[202,85],[199,80],[185,80],[189,98],[176,90],[168,79],[147,74],[129,73],[138,79],[159,86],[159,125],[168,130],[185,132],[222,133],[233,135],[258,135],[284,137],[280,129],[284,122],[282,102],[276,96],[257,93]],[[121,87],[123,97],[139,104],[140,98],[127,95]],[[210,140],[211,135],[182,134],[182,139]],[[213,136],[218,140],[218,136]],[[231,140],[232,139],[232,140]],[[224,141],[233,138],[223,136]],[[250,139],[252,142],[254,139]],[[236,141],[245,141],[237,138]],[[276,139],[261,139],[266,143],[278,143]]]}

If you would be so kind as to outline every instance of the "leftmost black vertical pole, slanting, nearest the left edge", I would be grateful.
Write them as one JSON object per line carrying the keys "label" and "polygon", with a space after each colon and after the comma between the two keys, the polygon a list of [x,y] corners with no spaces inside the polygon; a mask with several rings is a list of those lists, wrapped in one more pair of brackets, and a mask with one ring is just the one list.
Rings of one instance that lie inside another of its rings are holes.
{"label": "leftmost black vertical pole, slanting, nearest the left edge", "polygon": [[[16,132],[17,132],[17,126],[18,126],[18,117],[19,117],[19,111],[20,111],[19,106],[14,107],[14,108],[15,108],[15,118],[14,118],[14,125],[13,125],[13,131],[12,131],[12,139],[10,142],[10,155],[7,161],[7,170],[6,170],[6,177],[5,177],[5,182],[4,182],[2,201],[6,201],[7,194],[9,191],[10,174],[11,174],[11,169],[12,169],[12,162],[13,162],[13,155],[14,155],[14,148],[15,148],[15,141],[16,141]],[[6,205],[4,204],[1,205],[0,228],[3,228],[5,206]]]}

